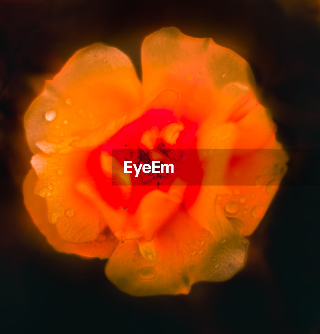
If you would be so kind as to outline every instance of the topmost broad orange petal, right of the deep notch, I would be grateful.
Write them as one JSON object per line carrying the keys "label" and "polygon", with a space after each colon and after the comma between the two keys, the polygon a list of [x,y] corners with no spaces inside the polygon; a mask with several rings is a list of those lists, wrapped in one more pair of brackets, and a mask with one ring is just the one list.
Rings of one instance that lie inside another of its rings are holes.
{"label": "topmost broad orange petal, right of the deep notch", "polygon": [[227,83],[250,85],[253,81],[247,62],[235,52],[210,38],[186,36],[177,28],[146,37],[141,61],[144,101],[172,88],[181,97],[176,115],[189,120],[201,121],[212,112],[221,113],[215,106]]}

